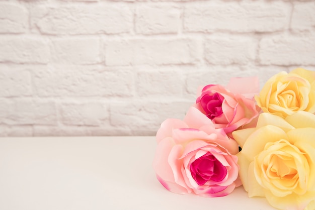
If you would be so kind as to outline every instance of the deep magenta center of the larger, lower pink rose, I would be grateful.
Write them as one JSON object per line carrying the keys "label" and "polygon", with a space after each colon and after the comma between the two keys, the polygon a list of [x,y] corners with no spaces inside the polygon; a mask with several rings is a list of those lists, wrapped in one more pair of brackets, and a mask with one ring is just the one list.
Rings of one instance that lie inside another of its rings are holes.
{"label": "deep magenta center of the larger, lower pink rose", "polygon": [[203,185],[209,180],[222,181],[227,174],[222,163],[209,152],[190,165],[190,172],[198,185]]}

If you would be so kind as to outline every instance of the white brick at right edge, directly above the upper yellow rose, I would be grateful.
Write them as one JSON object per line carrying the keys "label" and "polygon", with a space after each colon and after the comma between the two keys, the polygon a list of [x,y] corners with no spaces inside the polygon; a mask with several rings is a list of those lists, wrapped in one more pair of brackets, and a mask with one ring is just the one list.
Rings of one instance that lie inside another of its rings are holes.
{"label": "white brick at right edge, directly above the upper yellow rose", "polygon": [[270,65],[314,65],[315,38],[271,37],[260,42],[261,64]]}

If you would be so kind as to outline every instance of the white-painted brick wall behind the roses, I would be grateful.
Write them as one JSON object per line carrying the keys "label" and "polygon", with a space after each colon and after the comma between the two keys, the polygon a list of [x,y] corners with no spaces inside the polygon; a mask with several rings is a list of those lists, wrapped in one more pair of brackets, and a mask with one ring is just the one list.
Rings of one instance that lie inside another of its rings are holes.
{"label": "white-painted brick wall behind the roses", "polygon": [[314,0],[2,0],[0,136],[154,135],[197,87],[315,71]]}

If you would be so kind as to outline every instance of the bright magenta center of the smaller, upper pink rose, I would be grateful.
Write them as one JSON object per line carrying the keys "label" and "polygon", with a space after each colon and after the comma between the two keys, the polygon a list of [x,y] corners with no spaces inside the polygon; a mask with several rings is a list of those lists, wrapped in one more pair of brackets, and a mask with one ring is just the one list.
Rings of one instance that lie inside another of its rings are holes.
{"label": "bright magenta center of the smaller, upper pink rose", "polygon": [[205,94],[201,97],[200,105],[210,120],[213,120],[213,118],[222,115],[223,99],[224,97],[217,92],[213,95]]}

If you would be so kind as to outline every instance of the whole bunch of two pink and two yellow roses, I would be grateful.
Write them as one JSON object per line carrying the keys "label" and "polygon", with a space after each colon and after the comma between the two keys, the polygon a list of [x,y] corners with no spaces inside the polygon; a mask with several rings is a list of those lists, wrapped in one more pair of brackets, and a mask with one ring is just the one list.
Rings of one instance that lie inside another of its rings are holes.
{"label": "whole bunch of two pink and two yellow roses", "polygon": [[224,196],[243,184],[279,209],[315,209],[315,72],[207,85],[184,120],[156,133],[153,168],[176,193]]}

